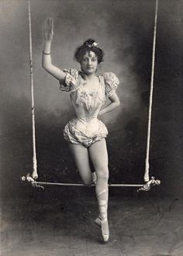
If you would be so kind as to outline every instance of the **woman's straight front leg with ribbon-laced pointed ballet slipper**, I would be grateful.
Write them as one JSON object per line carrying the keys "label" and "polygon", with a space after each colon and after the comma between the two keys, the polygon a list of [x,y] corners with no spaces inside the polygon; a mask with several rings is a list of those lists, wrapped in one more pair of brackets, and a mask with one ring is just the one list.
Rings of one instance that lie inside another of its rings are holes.
{"label": "woman's straight front leg with ribbon-laced pointed ballet slipper", "polygon": [[89,154],[91,161],[94,165],[97,183],[95,192],[98,199],[99,216],[97,222],[102,227],[102,237],[105,241],[109,239],[109,226],[107,220],[107,208],[108,208],[108,153],[105,143],[105,139],[95,142],[89,147]]}

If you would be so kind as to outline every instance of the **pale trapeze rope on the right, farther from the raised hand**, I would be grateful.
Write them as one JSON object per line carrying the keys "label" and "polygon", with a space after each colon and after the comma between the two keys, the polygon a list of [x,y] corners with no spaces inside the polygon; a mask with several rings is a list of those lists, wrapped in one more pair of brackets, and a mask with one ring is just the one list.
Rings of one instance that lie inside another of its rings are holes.
{"label": "pale trapeze rope on the right, farther from the raised hand", "polygon": [[150,78],[150,106],[149,106],[148,130],[147,130],[146,168],[143,176],[144,182],[148,182],[150,179],[149,177],[150,125],[151,125],[151,112],[152,112],[153,90],[154,90],[154,61],[155,61],[156,36],[157,36],[157,11],[158,11],[158,0],[156,0],[156,10],[155,10],[155,19],[154,19],[154,42],[153,42],[152,67],[151,67],[151,78]]}

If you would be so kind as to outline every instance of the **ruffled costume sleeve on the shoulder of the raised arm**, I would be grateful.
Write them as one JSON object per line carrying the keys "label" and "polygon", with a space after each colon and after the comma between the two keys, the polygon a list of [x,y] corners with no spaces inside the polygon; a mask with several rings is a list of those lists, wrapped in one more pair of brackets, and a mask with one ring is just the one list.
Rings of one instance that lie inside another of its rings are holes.
{"label": "ruffled costume sleeve on the shoulder of the raised arm", "polygon": [[69,69],[64,69],[64,73],[66,74],[66,77],[64,82],[61,82],[61,81],[59,82],[60,90],[71,92],[76,87],[76,84],[78,81],[78,71],[73,68],[69,68]]}

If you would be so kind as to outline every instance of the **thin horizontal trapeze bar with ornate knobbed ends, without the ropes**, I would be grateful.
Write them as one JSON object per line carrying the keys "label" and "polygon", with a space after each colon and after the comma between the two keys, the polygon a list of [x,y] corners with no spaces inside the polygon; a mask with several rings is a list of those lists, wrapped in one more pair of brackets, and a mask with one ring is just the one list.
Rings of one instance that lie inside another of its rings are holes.
{"label": "thin horizontal trapeze bar with ornate knobbed ends, without the ropes", "polygon": [[[29,174],[27,174],[26,176],[22,176],[21,177],[22,182],[27,182],[29,184],[31,184],[34,188],[37,189],[44,189],[43,185],[60,185],[60,186],[95,186],[95,184],[91,184],[91,185],[84,185],[81,183],[58,183],[58,182],[36,182],[35,179],[33,179],[33,177],[31,177]],[[139,191],[149,191],[151,187],[153,187],[154,185],[160,185],[161,181],[160,180],[156,180],[154,178],[154,176],[151,177],[149,182],[146,182],[145,184],[109,184],[109,187],[139,187],[140,189],[137,189],[137,192]]]}

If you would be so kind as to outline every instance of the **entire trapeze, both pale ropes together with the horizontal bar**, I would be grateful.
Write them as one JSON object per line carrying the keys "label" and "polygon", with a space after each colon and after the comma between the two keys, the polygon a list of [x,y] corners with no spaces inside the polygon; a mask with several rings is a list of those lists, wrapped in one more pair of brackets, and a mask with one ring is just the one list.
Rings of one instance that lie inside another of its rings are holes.
{"label": "entire trapeze, both pale ropes together with the horizontal bar", "polygon": [[[30,176],[22,176],[22,182],[28,182],[35,188],[44,189],[43,185],[62,185],[62,186],[85,186],[80,183],[56,183],[56,182],[36,182],[38,178],[37,174],[37,161],[36,161],[36,133],[35,133],[35,112],[34,112],[34,94],[33,94],[33,49],[32,49],[32,32],[31,32],[31,10],[30,0],[28,0],[28,12],[29,12],[29,66],[30,66],[30,87],[31,87],[31,104],[32,104],[32,126],[33,126],[33,174]],[[154,41],[152,51],[152,66],[151,66],[151,78],[150,78],[150,104],[148,115],[148,129],[147,129],[147,154],[146,165],[144,171],[145,184],[109,184],[109,187],[140,187],[139,191],[149,191],[154,185],[160,185],[161,181],[156,180],[153,177],[149,178],[149,156],[150,156],[150,126],[151,126],[151,112],[153,102],[153,90],[154,90],[154,62],[155,62],[155,50],[156,50],[156,35],[157,35],[157,12],[158,12],[158,0],[156,0],[155,18],[154,18]],[[93,184],[95,185],[95,184]],[[91,185],[92,186],[92,185]]]}

